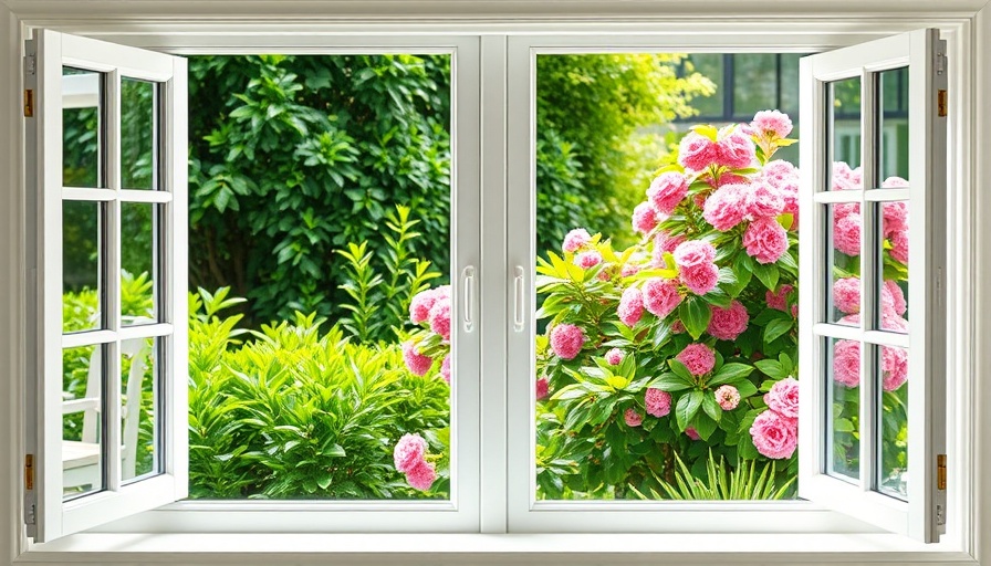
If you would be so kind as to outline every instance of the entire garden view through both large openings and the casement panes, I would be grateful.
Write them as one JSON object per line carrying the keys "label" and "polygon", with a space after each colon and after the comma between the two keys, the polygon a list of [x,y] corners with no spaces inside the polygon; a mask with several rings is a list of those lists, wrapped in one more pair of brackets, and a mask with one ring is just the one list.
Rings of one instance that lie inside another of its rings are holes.
{"label": "entire garden view through both large openings and the casement panes", "polygon": [[[747,77],[714,72],[734,60],[762,72],[747,57],[771,57],[776,83],[744,96]],[[797,55],[536,61],[538,496],[794,497]],[[884,83],[885,187],[907,182],[901,74]],[[124,182],[142,188],[154,93],[133,83]],[[448,499],[450,57],[191,56],[189,88],[189,496]],[[831,188],[873,186],[857,163],[859,90],[833,96]],[[95,187],[98,112],[64,122],[64,184]],[[156,312],[157,206],[121,212],[135,324]],[[65,207],[65,332],[98,327],[101,214]],[[894,332],[907,328],[907,214],[880,211]],[[856,325],[862,211],[827,217],[830,312]],[[859,343],[833,342],[832,471],[856,478]],[[76,349],[69,399],[86,396],[97,358]],[[904,495],[906,352],[882,349],[882,483]],[[142,399],[132,476],[156,470],[153,352],[122,360],[142,374],[122,392]],[[83,438],[80,413],[63,422]]]}

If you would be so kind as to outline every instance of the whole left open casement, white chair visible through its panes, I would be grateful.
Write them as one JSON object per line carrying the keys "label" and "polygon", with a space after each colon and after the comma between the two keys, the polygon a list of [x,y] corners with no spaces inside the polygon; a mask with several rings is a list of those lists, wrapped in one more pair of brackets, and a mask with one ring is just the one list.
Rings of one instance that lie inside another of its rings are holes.
{"label": "whole left open casement, white chair visible through its panes", "polygon": [[25,85],[25,515],[44,542],[186,495],[186,61],[42,30]]}

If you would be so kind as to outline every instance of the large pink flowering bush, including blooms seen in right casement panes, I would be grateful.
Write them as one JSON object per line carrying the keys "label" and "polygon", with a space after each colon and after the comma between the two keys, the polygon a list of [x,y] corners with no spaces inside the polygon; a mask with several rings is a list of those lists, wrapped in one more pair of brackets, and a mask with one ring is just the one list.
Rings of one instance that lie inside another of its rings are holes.
{"label": "large pink flowering bush, including blooms seen in right casement panes", "polygon": [[[547,321],[536,338],[541,496],[665,493],[659,485],[674,481],[678,461],[705,478],[713,457],[734,467],[780,460],[779,485],[795,476],[799,175],[773,159],[793,143],[791,129],[776,111],[693,128],[633,211],[637,244],[614,250],[580,228],[560,254],[539,260],[538,318]],[[837,182],[854,188],[854,175]],[[900,261],[903,208],[886,208],[886,262]],[[859,210],[843,212],[837,253],[854,241],[859,250]],[[846,265],[844,276],[856,271]],[[886,279],[886,327],[901,327],[905,277]],[[855,287],[836,290],[846,316],[859,312]],[[856,387],[858,352],[846,355],[836,378]],[[885,357],[886,389],[904,382],[904,356]],[[844,403],[855,400],[849,391]],[[896,405],[888,401],[886,411]],[[843,405],[834,416],[845,420],[837,450],[854,458],[856,410]],[[886,438],[904,432],[897,419]]]}

